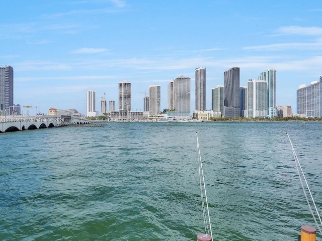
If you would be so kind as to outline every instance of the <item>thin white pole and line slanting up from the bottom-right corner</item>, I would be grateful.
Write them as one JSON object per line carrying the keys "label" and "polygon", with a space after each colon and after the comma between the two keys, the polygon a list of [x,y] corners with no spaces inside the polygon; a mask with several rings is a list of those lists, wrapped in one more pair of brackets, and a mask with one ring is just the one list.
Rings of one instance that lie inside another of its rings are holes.
{"label": "thin white pole and line slanting up from the bottom-right corner", "polygon": [[315,205],[315,202],[314,202],[314,199],[313,199],[313,196],[312,196],[311,190],[310,190],[310,188],[308,187],[308,184],[307,184],[306,178],[305,178],[305,176],[304,176],[304,172],[303,172],[303,170],[302,170],[301,164],[300,164],[300,162],[299,162],[299,160],[298,160],[298,158],[297,158],[297,155],[296,155],[296,153],[295,153],[295,150],[294,150],[294,148],[293,148],[292,141],[291,141],[291,139],[290,139],[290,137],[289,137],[288,133],[286,133],[286,135],[287,135],[288,140],[290,141],[290,144],[291,144],[291,147],[292,147],[292,152],[293,152],[293,156],[294,156],[294,159],[295,159],[295,166],[296,166],[296,170],[297,170],[297,173],[298,173],[298,177],[299,177],[299,179],[300,179],[300,182],[301,182],[301,186],[302,186],[302,189],[303,189],[303,192],[304,192],[304,196],[305,196],[306,202],[307,202],[307,204],[308,204],[308,207],[309,207],[309,209],[310,209],[310,212],[311,212],[311,214],[312,214],[312,217],[313,217],[313,219],[314,219],[314,221],[315,221],[315,224],[316,224],[316,226],[317,226],[317,228],[318,228],[318,230],[319,230],[320,234],[322,235],[321,228],[320,228],[319,224],[317,223],[317,220],[316,220],[315,215],[314,215],[314,213],[313,213],[313,210],[312,210],[311,204],[310,204],[310,202],[309,202],[309,200],[308,200],[308,197],[307,197],[307,195],[306,195],[305,188],[304,188],[304,185],[303,185],[303,181],[302,181],[302,178],[301,178],[301,174],[300,174],[299,169],[301,170],[301,173],[302,173],[303,179],[304,179],[304,181],[305,181],[305,184],[306,184],[307,190],[308,190],[308,192],[309,192],[309,194],[310,194],[310,196],[311,196],[312,202],[313,202],[313,204],[314,204],[314,208],[315,208],[315,211],[316,211],[316,213],[317,213],[318,219],[319,219],[319,221],[320,221],[320,223],[321,223],[321,225],[322,225],[322,221],[321,221],[320,215],[318,214],[318,211],[317,211],[317,208],[316,208],[316,205]]}

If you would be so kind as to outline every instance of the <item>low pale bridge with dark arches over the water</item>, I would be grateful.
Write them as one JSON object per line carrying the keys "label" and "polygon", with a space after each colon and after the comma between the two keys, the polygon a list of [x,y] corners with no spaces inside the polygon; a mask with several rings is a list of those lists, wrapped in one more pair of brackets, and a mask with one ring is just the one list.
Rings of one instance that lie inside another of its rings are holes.
{"label": "low pale bridge with dark arches over the water", "polygon": [[95,121],[69,115],[7,115],[0,116],[0,133],[70,125],[86,125],[91,123],[95,123]]}

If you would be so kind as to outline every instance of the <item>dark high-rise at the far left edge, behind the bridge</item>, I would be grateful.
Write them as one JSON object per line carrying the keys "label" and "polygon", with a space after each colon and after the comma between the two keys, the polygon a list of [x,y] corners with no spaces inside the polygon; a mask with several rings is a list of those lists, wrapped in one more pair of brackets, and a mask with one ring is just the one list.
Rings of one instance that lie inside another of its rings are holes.
{"label": "dark high-rise at the far left edge, behind the bridge", "polygon": [[0,66],[0,114],[11,115],[14,105],[14,69]]}

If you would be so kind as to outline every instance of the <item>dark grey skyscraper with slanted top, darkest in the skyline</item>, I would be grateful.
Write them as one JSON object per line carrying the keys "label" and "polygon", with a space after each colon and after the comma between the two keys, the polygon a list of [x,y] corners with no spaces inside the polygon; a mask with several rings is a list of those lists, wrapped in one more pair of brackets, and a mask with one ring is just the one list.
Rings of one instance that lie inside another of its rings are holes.
{"label": "dark grey skyscraper with slanted top, darkest in the skyline", "polygon": [[224,82],[224,116],[240,116],[239,67],[233,67],[223,74]]}

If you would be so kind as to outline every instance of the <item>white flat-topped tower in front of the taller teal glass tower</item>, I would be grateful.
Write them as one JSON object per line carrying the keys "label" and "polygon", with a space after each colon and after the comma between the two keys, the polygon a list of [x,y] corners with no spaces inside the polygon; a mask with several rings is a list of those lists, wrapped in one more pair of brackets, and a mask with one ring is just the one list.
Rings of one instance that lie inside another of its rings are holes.
{"label": "white flat-topped tower in front of the taller teal glass tower", "polygon": [[246,117],[267,117],[267,82],[265,80],[248,80]]}

